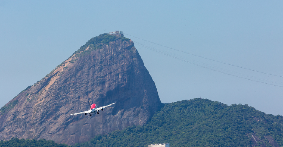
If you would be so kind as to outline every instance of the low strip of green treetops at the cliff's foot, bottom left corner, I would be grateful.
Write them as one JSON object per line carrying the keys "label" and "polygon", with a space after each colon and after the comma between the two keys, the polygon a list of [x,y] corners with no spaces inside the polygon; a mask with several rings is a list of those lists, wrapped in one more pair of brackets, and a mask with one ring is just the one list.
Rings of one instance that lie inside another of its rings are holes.
{"label": "low strip of green treetops at the cliff's foot, bottom left corner", "polygon": [[9,141],[0,141],[0,147],[68,147],[65,144],[58,144],[52,140],[18,139],[12,138]]}

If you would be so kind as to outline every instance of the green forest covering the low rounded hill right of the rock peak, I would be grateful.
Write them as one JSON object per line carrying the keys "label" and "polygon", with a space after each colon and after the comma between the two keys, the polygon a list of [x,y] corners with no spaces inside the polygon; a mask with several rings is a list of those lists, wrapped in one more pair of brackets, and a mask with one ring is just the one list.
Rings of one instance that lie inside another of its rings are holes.
{"label": "green forest covering the low rounded hill right of the rock peak", "polygon": [[[152,143],[185,146],[252,146],[252,134],[271,147],[268,137],[283,146],[283,117],[260,112],[247,105],[225,105],[208,99],[164,104],[145,126],[131,126],[95,136],[74,147],[147,147]],[[1,147],[0,143],[0,147]]]}

